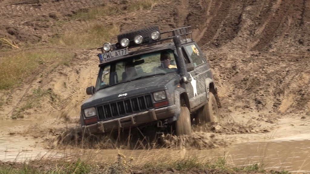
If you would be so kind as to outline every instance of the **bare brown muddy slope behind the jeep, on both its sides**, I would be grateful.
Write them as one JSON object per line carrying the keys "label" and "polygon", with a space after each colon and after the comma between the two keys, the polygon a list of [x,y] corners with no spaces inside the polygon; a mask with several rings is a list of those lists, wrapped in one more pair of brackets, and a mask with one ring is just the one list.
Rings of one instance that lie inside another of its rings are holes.
{"label": "bare brown muddy slope behind the jeep, on both its sides", "polygon": [[[130,3],[110,2],[122,6]],[[55,21],[104,3],[3,0],[0,2],[1,36],[16,43],[46,43],[44,38],[51,37],[50,26]],[[176,4],[178,8],[171,8]],[[121,31],[151,24],[160,25],[162,30],[193,26],[193,36],[214,70],[225,109],[286,113],[305,111],[310,107],[309,7],[310,2],[305,0],[170,0],[160,1],[145,13],[121,16],[115,23]],[[72,24],[77,25],[78,21],[72,21]],[[78,54],[78,57],[87,55],[96,59],[95,51]],[[57,102],[47,103],[47,108],[40,111],[57,111],[64,105],[78,108],[85,98],[84,89],[90,84],[89,72],[83,71],[96,66],[95,60],[79,60],[81,62],[72,67],[60,68],[47,75],[46,79],[52,80],[39,84],[42,88],[48,86],[59,96]],[[77,75],[75,71],[82,73]],[[94,71],[93,76],[95,74]],[[69,80],[70,89],[61,80]],[[27,89],[36,85],[37,81],[30,83]],[[27,91],[12,94],[17,100],[7,101],[7,105],[23,102],[18,99]],[[78,95],[72,95],[72,91]]]}

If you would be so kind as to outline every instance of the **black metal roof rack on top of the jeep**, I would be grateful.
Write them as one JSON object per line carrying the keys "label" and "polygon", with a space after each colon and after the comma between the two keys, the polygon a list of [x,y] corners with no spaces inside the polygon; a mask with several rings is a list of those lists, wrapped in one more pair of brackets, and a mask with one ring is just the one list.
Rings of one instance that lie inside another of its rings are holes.
{"label": "black metal roof rack on top of the jeep", "polygon": [[[153,39],[151,39],[151,36],[148,36],[148,37],[146,37],[147,38],[147,42],[141,43],[141,44],[135,44],[133,39],[131,39],[131,40],[128,39],[129,44],[126,47],[121,46],[121,44],[119,42],[117,42],[115,44],[105,43],[105,44],[109,44],[110,45],[110,47],[111,47],[110,50],[105,51],[104,50],[104,46],[97,48],[97,50],[101,50],[102,53],[106,53],[106,52],[110,52],[110,51],[114,51],[114,50],[121,50],[121,49],[125,49],[125,48],[127,48],[127,49],[137,48],[137,47],[140,47],[140,46],[145,46],[145,45],[154,44],[154,43],[157,43],[157,42],[162,42],[162,41],[166,41],[166,40],[169,40],[169,39],[173,39],[173,37],[177,36],[177,35],[182,37],[181,38],[182,40],[185,39],[185,42],[187,42],[187,37],[186,37],[187,35],[190,35],[189,39],[193,40],[193,35],[192,35],[193,32],[189,32],[188,31],[189,28],[191,28],[191,26],[176,28],[176,29],[173,29],[173,30],[165,31],[165,32],[158,32],[157,31],[160,36],[162,34],[167,34],[167,33],[172,33],[172,36],[166,37],[166,38],[159,37],[159,39],[157,39],[157,40],[153,40]],[[130,44],[130,43],[133,43],[133,44]]]}

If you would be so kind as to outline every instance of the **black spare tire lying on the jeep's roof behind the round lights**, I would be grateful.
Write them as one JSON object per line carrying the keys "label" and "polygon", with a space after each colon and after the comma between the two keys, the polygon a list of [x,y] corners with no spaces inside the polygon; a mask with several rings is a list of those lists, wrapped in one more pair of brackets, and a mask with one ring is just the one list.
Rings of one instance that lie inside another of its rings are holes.
{"label": "black spare tire lying on the jeep's roof behind the round lights", "polygon": [[122,38],[127,38],[130,41],[132,41],[136,35],[141,35],[143,38],[146,38],[149,37],[153,31],[159,32],[159,27],[157,25],[154,25],[146,28],[137,29],[127,33],[122,33],[117,35],[117,41],[121,43]]}

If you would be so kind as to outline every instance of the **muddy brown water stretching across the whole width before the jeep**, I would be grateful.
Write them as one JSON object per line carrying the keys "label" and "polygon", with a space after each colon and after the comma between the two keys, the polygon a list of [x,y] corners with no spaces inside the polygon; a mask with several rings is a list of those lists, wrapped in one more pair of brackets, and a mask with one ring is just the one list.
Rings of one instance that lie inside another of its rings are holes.
{"label": "muddy brown water stretching across the whole width before the jeep", "polygon": [[[38,121],[38,120],[37,120]],[[33,120],[1,120],[0,121],[0,160],[23,161],[43,155],[52,157],[64,154],[80,154],[86,159],[95,161],[115,161],[116,154],[124,154],[127,158],[141,160],[160,160],[163,157],[197,156],[201,159],[216,159],[225,156],[229,164],[250,165],[264,164],[266,169],[290,172],[310,172],[310,134],[278,138],[268,142],[248,142],[228,148],[212,150],[54,150],[35,147],[35,139],[10,135],[8,129],[19,125],[33,124]],[[17,127],[16,127],[17,126]]]}

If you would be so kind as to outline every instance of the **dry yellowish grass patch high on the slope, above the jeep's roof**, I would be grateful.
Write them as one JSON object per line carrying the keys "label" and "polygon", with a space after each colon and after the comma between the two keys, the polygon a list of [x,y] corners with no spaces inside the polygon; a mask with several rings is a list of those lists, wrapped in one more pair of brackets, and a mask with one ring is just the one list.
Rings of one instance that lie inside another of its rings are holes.
{"label": "dry yellowish grass patch high on the slope, above the jeep's roof", "polygon": [[62,25],[68,30],[53,38],[52,43],[79,49],[97,48],[119,34],[122,17],[135,14],[137,11],[149,10],[156,3],[157,1],[152,0],[135,0],[123,5],[108,3],[105,6],[78,12],[72,16],[72,20],[76,21],[73,23],[74,27],[68,27],[72,26],[72,23],[66,24],[62,21],[64,22]]}

